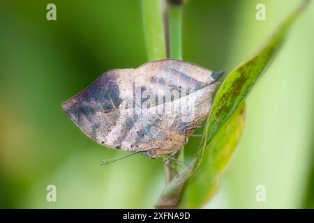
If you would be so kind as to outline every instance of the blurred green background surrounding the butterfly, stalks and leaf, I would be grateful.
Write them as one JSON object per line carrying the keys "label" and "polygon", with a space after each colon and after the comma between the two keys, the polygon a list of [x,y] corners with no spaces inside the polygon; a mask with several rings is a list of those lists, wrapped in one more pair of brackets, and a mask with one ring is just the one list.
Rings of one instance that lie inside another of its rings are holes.
{"label": "blurred green background surrounding the butterfly, stalks and leaf", "polygon": [[[183,58],[210,68],[248,59],[296,0],[190,0]],[[57,21],[46,20],[47,3]],[[255,20],[257,3],[267,20]],[[246,128],[205,208],[314,208],[314,4],[247,100]],[[0,208],[153,208],[162,160],[103,148],[75,127],[61,102],[112,68],[147,62],[141,2],[0,1]],[[197,150],[191,139],[187,153]],[[47,185],[57,202],[46,201]],[[257,202],[257,185],[267,199]]]}

